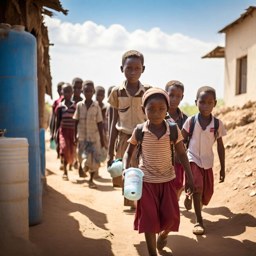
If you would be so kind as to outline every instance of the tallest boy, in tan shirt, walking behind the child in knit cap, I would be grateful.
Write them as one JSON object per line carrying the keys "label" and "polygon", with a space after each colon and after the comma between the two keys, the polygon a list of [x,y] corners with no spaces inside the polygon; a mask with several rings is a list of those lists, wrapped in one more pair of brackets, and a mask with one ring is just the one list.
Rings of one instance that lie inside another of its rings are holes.
{"label": "tallest boy, in tan shirt, walking behind the child in knit cap", "polygon": [[[113,119],[111,124],[110,139],[108,146],[108,166],[114,158],[114,148],[117,135],[117,158],[123,158],[128,146],[127,140],[131,137],[137,124],[146,121],[146,115],[141,110],[142,96],[146,92],[139,78],[144,72],[144,56],[138,51],[131,50],[122,57],[121,72],[126,80],[119,86],[114,87],[108,98],[108,103],[113,106]],[[133,153],[130,166],[137,167],[136,152]],[[113,186],[124,187],[121,176],[113,178]],[[124,205],[135,207],[135,202],[124,198]]]}

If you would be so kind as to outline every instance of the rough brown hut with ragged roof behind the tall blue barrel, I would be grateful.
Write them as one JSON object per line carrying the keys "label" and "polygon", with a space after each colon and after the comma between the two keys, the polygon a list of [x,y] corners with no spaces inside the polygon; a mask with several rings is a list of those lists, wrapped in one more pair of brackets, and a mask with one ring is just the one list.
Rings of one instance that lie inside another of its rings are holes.
{"label": "rough brown hut with ragged roof behind the tall blue barrel", "polygon": [[43,128],[45,115],[45,93],[52,97],[52,76],[49,65],[49,43],[47,27],[43,15],[53,16],[49,9],[67,15],[59,0],[1,0],[0,23],[22,25],[36,37],[37,77],[38,77],[38,115],[39,128]]}

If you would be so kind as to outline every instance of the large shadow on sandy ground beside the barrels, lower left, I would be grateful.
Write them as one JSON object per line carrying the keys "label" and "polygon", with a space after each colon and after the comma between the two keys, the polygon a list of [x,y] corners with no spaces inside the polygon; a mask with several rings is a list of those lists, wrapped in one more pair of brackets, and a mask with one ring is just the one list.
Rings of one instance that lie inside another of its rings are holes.
{"label": "large shadow on sandy ground beside the barrels, lower left", "polygon": [[97,227],[108,230],[105,227],[106,214],[70,202],[46,185],[43,193],[43,221],[29,228],[30,241],[42,250],[43,256],[113,256],[109,240],[87,238],[81,234],[79,222],[70,216],[74,212],[80,212]]}

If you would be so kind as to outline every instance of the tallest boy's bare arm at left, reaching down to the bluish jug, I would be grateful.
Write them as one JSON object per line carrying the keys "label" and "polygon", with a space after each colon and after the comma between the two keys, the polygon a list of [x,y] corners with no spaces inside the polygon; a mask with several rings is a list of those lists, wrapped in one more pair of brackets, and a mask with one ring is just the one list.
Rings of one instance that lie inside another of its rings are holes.
{"label": "tallest boy's bare arm at left, reaching down to the bluish jug", "polygon": [[110,129],[110,138],[109,138],[109,144],[108,144],[108,157],[107,157],[108,166],[111,165],[114,158],[115,141],[118,135],[118,130],[116,128],[117,120],[118,120],[118,111],[116,108],[113,108],[113,119],[112,119],[112,124]]}

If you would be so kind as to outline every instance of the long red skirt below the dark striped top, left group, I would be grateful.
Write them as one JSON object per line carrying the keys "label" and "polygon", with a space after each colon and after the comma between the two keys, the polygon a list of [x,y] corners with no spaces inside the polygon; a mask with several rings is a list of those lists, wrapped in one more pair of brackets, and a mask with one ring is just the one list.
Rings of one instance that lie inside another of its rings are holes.
{"label": "long red skirt below the dark striped top, left group", "polygon": [[59,129],[60,155],[64,161],[72,164],[76,157],[76,146],[74,146],[74,130],[60,127]]}

